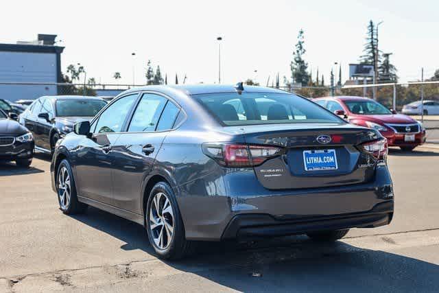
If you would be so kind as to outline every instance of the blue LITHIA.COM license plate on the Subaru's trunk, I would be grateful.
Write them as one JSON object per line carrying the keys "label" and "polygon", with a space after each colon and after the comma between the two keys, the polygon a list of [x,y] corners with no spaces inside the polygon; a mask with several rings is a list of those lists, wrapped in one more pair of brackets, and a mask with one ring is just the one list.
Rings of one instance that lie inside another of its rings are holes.
{"label": "blue LITHIA.COM license plate on the Subaru's trunk", "polygon": [[304,150],[303,163],[305,171],[338,169],[335,150]]}

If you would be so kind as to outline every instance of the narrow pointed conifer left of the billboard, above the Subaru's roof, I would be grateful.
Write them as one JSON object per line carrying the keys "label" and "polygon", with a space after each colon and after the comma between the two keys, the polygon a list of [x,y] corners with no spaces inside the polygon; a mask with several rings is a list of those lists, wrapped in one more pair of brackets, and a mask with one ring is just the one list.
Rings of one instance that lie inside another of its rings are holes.
{"label": "narrow pointed conifer left of the billboard, above the Subaru's roof", "polygon": [[303,30],[300,30],[297,36],[296,49],[293,52],[293,60],[289,66],[291,68],[293,82],[306,86],[309,81],[309,74],[307,72],[308,63],[303,60],[303,55],[306,53],[303,34]]}

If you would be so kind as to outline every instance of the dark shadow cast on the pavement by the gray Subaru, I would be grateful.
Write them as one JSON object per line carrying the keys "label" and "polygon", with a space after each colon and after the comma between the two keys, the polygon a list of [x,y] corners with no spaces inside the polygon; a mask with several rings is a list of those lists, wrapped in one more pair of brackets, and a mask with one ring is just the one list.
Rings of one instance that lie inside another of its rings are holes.
{"label": "dark shadow cast on the pavement by the gray Subaru", "polygon": [[[94,208],[73,218],[121,239],[126,243],[123,250],[154,255],[139,224]],[[210,281],[244,292],[439,292],[439,266],[434,263],[344,242],[313,242],[304,235],[259,242],[200,242],[193,255],[164,263],[189,273],[169,276],[174,284],[187,283],[192,276],[203,284]]]}

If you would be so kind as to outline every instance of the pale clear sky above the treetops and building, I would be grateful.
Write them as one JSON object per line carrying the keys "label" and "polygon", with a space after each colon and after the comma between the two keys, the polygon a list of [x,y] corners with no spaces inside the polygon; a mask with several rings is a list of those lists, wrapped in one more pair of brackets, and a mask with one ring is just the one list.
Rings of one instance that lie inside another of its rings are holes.
{"label": "pale clear sky above the treetops and building", "polygon": [[[379,26],[379,49],[392,53],[401,82],[429,78],[439,69],[439,1],[5,1],[0,43],[57,34],[65,47],[62,71],[84,65],[87,78],[119,84],[145,83],[147,60],[163,76],[187,83],[218,80],[218,41],[222,36],[222,83],[247,78],[266,84],[276,73],[291,76],[289,62],[300,29],[304,58],[329,82],[331,68],[342,80],[358,62],[368,21]],[[136,55],[133,57],[132,53]],[[337,62],[339,65],[334,65]],[[1,65],[0,65],[1,66]],[[257,71],[257,72],[255,72]],[[270,81],[271,84],[271,81]]]}

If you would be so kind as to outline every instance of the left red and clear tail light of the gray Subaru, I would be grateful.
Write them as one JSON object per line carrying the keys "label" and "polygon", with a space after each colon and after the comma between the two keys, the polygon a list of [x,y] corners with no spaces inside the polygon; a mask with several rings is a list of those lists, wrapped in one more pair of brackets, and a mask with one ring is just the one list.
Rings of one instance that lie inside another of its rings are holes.
{"label": "left red and clear tail light of the gray Subaru", "polygon": [[241,143],[204,143],[202,149],[224,167],[254,167],[281,152],[281,148]]}

